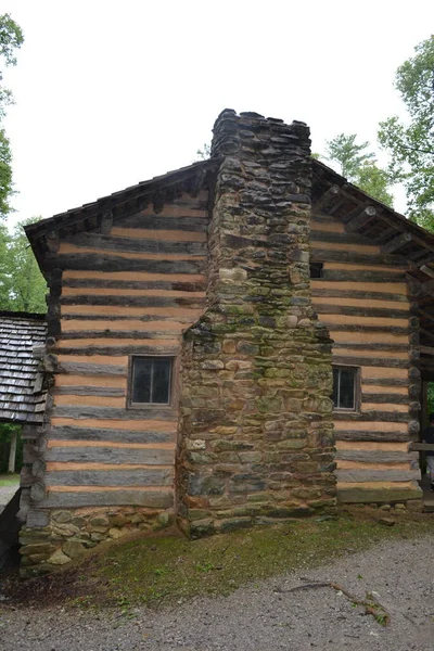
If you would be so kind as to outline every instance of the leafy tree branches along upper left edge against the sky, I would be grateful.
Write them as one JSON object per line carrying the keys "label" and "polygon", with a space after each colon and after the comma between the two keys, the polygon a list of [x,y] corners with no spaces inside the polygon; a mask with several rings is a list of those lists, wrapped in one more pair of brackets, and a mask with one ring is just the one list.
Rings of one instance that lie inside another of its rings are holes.
{"label": "leafy tree branches along upper left edge against the sky", "polygon": [[15,51],[23,42],[24,37],[20,25],[11,18],[10,14],[0,15],[0,218],[11,213],[9,200],[13,194],[11,148],[4,128],[1,127],[7,107],[13,103],[13,95],[2,84],[2,68],[16,65]]}

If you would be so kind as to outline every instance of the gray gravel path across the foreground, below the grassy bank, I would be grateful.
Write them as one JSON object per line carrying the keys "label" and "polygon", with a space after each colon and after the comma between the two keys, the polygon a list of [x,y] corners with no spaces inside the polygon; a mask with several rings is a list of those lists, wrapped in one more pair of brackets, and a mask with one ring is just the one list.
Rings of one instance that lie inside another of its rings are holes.
{"label": "gray gravel path across the foreground, below the grassy bank", "polygon": [[[0,610],[1,651],[432,651],[434,545],[430,538],[379,545],[316,570],[151,612],[94,614],[62,609]],[[373,591],[391,622],[380,626],[345,595]]]}

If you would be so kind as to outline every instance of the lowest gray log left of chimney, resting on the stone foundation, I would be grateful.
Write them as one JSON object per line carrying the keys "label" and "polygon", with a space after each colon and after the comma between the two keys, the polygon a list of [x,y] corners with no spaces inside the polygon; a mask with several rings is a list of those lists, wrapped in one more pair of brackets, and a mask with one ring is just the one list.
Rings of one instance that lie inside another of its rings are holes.
{"label": "lowest gray log left of chimney, resting on the stone foundation", "polygon": [[128,487],[116,490],[49,490],[48,497],[40,503],[41,508],[78,508],[78,507],[148,507],[150,509],[169,509],[174,506],[173,490],[129,490]]}

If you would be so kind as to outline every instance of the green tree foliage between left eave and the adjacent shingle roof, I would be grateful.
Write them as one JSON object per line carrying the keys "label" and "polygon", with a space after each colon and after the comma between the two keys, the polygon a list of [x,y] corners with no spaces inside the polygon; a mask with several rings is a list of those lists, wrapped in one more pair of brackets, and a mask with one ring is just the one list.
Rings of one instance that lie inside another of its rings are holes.
{"label": "green tree foliage between left eave and the adjacent shingle roof", "polygon": [[17,224],[12,235],[0,225],[0,309],[47,311],[46,280],[23,229],[38,219]]}

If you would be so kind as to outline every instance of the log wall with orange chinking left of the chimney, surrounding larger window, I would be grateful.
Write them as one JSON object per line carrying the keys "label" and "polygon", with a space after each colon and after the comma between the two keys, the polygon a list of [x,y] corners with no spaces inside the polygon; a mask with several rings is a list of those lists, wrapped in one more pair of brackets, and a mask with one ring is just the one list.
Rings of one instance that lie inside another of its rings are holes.
{"label": "log wall with orange chinking left of the chimney, surrounding larger window", "polygon": [[[129,358],[178,356],[182,331],[204,309],[207,225],[203,191],[167,203],[158,214],[150,206],[105,225],[104,232],[61,238],[54,246],[49,265],[58,282],[51,286],[49,323],[56,331],[60,319],[61,332],[50,350],[55,356],[50,423],[38,450],[26,450],[27,462],[44,464],[46,493],[41,485],[30,528],[48,524],[49,513],[55,522],[55,510],[93,508],[91,520],[112,512],[117,522],[119,508],[140,508],[139,515],[130,513],[129,526],[131,518],[142,523],[143,513],[151,518],[174,508],[177,365],[171,407],[131,409]],[[74,520],[62,518],[71,527]],[[82,531],[74,529],[79,544],[118,537],[113,518],[106,525],[97,522],[97,533],[88,520]],[[23,538],[28,565],[31,535],[24,532]],[[67,551],[50,547],[44,553],[35,563],[63,562]]]}

